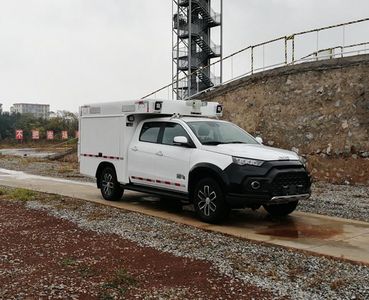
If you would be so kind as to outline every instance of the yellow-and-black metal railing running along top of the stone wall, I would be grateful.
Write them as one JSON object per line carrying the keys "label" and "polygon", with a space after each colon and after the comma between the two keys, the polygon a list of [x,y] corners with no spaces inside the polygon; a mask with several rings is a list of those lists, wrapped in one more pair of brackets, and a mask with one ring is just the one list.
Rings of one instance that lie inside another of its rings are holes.
{"label": "yellow-and-black metal railing running along top of the stone wall", "polygon": [[[277,67],[367,54],[369,53],[369,41],[362,41],[364,38],[367,39],[360,32],[362,29],[364,29],[363,32],[368,31],[369,18],[298,32],[248,46],[224,57],[222,60],[217,60],[206,67],[196,70],[192,74],[183,76],[145,95],[143,98],[173,98],[171,92],[173,86],[176,86],[181,81],[187,81],[189,76],[199,75],[200,72],[207,71],[206,69],[210,69],[210,72],[213,70],[213,73],[215,73],[214,70],[220,67],[221,61],[223,62],[223,82],[217,83],[211,88]],[[185,86],[185,84],[178,85]],[[198,90],[191,98],[203,92],[205,91]]]}

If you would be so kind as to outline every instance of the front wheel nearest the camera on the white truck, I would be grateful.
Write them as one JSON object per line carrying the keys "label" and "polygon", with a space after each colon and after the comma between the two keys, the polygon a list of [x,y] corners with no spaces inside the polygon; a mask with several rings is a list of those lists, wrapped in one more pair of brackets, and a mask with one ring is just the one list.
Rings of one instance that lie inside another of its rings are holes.
{"label": "front wheel nearest the camera on the white truck", "polygon": [[218,182],[213,178],[204,178],[196,184],[193,203],[198,218],[206,223],[219,223],[229,214],[229,206]]}

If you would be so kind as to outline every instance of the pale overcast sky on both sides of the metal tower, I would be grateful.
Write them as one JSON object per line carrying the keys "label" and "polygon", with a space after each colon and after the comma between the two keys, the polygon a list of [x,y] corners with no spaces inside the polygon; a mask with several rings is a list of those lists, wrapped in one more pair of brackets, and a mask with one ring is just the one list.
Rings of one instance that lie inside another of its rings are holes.
{"label": "pale overcast sky on both sides of the metal tower", "polygon": [[[369,17],[368,0],[224,0],[224,54]],[[171,81],[171,0],[0,0],[0,103],[77,111]],[[365,32],[369,40],[369,28]],[[363,38],[364,40],[364,38]]]}

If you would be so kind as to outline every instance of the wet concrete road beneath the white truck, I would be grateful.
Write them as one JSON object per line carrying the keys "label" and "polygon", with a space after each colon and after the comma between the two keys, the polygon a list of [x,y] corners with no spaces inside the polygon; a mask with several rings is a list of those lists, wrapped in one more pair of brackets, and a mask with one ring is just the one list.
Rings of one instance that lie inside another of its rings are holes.
{"label": "wet concrete road beneath the white truck", "polygon": [[238,210],[227,223],[209,225],[196,220],[188,209],[181,211],[171,205],[163,206],[158,198],[142,193],[125,191],[121,201],[105,201],[92,183],[0,169],[0,185],[75,197],[239,238],[369,264],[369,223],[365,222],[302,212],[275,220],[263,210]]}

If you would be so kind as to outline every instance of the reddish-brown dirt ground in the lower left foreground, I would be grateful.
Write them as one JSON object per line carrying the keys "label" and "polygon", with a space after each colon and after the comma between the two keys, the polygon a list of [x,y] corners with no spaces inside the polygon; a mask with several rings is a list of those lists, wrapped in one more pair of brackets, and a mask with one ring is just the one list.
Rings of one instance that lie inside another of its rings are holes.
{"label": "reddish-brown dirt ground in the lower left foreground", "polygon": [[[59,196],[43,197],[47,201]],[[36,298],[275,299],[275,295],[220,275],[208,262],[83,230],[2,195],[0,299]]]}

